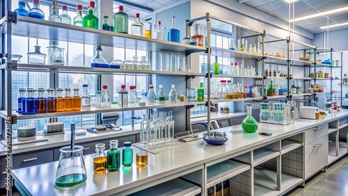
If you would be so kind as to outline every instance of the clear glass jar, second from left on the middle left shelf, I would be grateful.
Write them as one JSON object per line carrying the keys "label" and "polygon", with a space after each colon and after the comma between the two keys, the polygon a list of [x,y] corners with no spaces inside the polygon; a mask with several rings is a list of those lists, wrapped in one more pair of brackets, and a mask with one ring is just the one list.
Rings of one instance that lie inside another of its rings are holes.
{"label": "clear glass jar, second from left on the middle left shelf", "polygon": [[47,49],[49,65],[64,65],[64,49],[58,47],[58,41],[51,40]]}

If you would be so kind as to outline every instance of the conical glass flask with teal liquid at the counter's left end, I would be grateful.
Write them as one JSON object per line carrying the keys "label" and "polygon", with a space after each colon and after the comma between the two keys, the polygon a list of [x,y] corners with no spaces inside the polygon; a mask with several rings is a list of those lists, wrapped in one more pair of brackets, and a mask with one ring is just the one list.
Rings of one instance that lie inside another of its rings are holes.
{"label": "conical glass flask with teal liquid at the counter's left end", "polygon": [[59,149],[59,163],[56,172],[56,186],[60,188],[71,188],[79,186],[87,179],[84,156],[82,155],[84,147],[74,146],[62,147]]}

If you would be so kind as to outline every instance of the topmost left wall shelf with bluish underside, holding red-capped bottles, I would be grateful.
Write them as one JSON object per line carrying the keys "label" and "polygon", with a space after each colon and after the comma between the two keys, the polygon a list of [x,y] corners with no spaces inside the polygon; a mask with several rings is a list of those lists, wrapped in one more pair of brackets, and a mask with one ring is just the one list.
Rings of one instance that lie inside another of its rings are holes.
{"label": "topmost left wall shelf with bluish underside, holding red-capped bottles", "polygon": [[[3,21],[6,21],[6,17],[1,19],[1,25],[6,26],[7,22]],[[2,29],[2,33],[7,33],[6,28]],[[17,16],[17,24],[12,23],[12,35],[145,51],[163,50],[188,54],[207,51],[205,47],[190,44],[168,42],[127,33],[116,33],[23,16]]]}

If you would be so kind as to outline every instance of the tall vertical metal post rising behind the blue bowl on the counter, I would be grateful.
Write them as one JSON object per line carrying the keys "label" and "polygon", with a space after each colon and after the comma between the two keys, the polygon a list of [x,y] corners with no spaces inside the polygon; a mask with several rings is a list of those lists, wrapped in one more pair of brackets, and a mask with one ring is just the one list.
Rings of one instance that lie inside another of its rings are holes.
{"label": "tall vertical metal post rising behind the blue bowl on the counter", "polygon": [[[210,18],[209,18],[209,13],[206,13],[206,21],[207,21],[207,71],[208,71],[208,76],[210,76],[210,54],[211,54],[211,51],[210,51],[210,34],[211,34],[211,24],[210,24]],[[210,132],[210,77],[207,78],[207,83],[208,83],[208,86],[207,86],[207,121],[208,121],[208,127],[207,127],[207,131],[208,131],[208,134]]]}

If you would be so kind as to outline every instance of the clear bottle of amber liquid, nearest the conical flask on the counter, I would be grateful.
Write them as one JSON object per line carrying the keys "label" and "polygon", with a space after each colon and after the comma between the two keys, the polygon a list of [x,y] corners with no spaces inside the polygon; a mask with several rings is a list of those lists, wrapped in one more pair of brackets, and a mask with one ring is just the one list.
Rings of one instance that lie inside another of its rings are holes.
{"label": "clear bottle of amber liquid, nearest the conical flask on the counter", "polygon": [[95,174],[104,174],[106,172],[106,155],[104,153],[105,145],[100,143],[95,145],[95,156],[93,157],[93,170]]}

